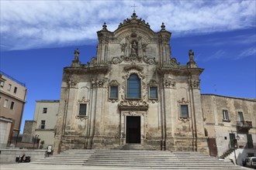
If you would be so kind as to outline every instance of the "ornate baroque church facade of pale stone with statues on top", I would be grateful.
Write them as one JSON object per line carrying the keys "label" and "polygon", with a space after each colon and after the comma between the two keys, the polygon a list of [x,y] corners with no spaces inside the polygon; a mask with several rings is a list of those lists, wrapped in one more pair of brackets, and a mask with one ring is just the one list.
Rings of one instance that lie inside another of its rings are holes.
{"label": "ornate baroque church facade of pale stone with statues on top", "polygon": [[54,152],[149,145],[157,150],[208,153],[199,76],[171,56],[164,23],[150,29],[135,12],[114,32],[97,32],[97,56],[82,64],[74,51],[64,67]]}

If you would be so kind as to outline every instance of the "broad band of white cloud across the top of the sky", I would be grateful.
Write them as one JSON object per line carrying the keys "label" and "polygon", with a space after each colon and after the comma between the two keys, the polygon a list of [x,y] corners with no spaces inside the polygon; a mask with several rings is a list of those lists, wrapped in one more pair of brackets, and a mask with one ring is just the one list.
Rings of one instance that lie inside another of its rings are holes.
{"label": "broad band of white cloud across the top of the sky", "polygon": [[[1,1],[1,49],[88,43],[107,22],[114,31],[131,5],[155,32],[175,36],[255,27],[255,1]],[[24,44],[26,42],[26,44]],[[57,43],[56,43],[57,42]]]}

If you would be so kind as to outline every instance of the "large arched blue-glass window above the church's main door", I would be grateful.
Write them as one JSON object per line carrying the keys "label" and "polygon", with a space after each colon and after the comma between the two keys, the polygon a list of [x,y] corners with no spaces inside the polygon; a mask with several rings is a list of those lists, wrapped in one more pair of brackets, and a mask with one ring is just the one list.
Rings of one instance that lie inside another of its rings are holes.
{"label": "large arched blue-glass window above the church's main door", "polygon": [[133,73],[127,80],[127,98],[140,98],[140,79]]}

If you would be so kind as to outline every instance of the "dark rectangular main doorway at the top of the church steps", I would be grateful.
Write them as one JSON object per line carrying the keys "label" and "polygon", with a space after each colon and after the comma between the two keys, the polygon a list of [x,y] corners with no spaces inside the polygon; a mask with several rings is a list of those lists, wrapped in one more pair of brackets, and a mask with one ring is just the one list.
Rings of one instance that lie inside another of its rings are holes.
{"label": "dark rectangular main doorway at the top of the church steps", "polygon": [[126,143],[140,144],[140,117],[126,117]]}

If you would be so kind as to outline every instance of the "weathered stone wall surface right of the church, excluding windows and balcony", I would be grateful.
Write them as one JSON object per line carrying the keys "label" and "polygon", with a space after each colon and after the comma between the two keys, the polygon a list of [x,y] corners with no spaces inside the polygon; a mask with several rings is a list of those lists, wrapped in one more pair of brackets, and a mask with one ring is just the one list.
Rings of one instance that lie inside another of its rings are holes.
{"label": "weathered stone wall surface right of the church, excluding windows and balcony", "polygon": [[[236,97],[223,97],[213,94],[202,94],[204,124],[209,138],[216,138],[218,155],[223,155],[230,148],[230,133],[234,133],[238,148],[247,148],[247,134],[252,135],[256,147],[256,100]],[[228,112],[228,120],[223,119],[223,110]],[[238,111],[244,115],[244,121],[251,121],[249,131],[238,131]]]}

